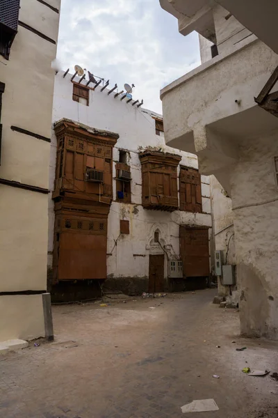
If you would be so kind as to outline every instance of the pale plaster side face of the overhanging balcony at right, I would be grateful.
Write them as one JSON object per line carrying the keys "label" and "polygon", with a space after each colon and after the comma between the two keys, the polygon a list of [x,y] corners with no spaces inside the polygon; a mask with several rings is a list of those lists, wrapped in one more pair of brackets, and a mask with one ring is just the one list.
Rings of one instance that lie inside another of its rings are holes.
{"label": "pale plaster side face of the overhanging balcony at right", "polygon": [[[254,96],[259,94],[277,66],[277,55],[252,36],[243,42],[246,42],[245,47],[235,47],[232,54],[220,54],[163,88],[166,144],[179,139],[180,147],[186,150],[188,148],[183,144],[187,138],[194,144],[195,137],[194,146],[202,150],[206,147],[206,125],[257,107]],[[240,105],[235,100],[240,100]],[[261,115],[268,119],[270,116],[266,112]],[[238,130],[238,134],[240,130],[251,130],[252,121],[254,125],[254,118],[249,125],[238,121],[234,130]],[[232,135],[229,144],[235,139]]]}

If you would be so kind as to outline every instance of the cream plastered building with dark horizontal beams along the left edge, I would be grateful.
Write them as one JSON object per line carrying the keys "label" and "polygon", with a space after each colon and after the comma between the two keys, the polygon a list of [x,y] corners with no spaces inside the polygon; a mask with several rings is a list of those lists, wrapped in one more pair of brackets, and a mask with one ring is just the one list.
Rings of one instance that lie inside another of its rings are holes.
{"label": "cream plastered building with dark horizontal beams along the left edge", "polygon": [[[51,337],[47,206],[60,0],[0,0],[0,341]],[[50,333],[50,334],[49,334]]]}

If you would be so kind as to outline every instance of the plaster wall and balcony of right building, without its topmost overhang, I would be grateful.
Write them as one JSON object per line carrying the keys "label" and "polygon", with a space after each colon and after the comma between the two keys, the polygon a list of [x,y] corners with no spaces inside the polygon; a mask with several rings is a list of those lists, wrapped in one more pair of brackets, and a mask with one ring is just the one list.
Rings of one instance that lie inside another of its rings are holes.
{"label": "plaster wall and balcony of right building, without its topmost overhang", "polygon": [[[278,192],[273,169],[278,120],[254,102],[277,67],[277,54],[245,29],[240,31],[232,17],[227,23],[223,17],[222,8],[215,8],[221,54],[161,91],[165,140],[183,150],[195,149],[200,171],[215,174],[229,187],[232,215],[227,205],[216,208],[215,225],[234,220],[241,330],[278,339]],[[247,38],[238,42],[243,33]],[[213,193],[220,197],[219,188]],[[216,235],[216,247],[225,243],[223,234]]]}

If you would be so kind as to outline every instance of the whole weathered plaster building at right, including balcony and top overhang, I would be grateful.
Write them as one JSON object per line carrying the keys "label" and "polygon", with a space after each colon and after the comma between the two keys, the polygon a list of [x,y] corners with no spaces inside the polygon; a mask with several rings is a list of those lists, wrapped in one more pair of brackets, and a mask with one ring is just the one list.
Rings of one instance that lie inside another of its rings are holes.
{"label": "whole weathered plaster building at right, including balcony and top overhang", "polygon": [[278,339],[277,2],[160,1],[183,35],[199,33],[202,57],[161,91],[166,144],[196,153],[231,198],[216,208],[218,274],[236,265],[242,332]]}

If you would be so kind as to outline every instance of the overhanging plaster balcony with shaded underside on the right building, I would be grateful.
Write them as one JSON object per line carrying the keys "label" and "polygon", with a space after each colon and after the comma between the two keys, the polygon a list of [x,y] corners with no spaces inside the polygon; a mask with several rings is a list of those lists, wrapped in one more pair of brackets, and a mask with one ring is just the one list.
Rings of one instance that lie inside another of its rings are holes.
{"label": "overhanging plaster balcony with shaded underside on the right building", "polygon": [[254,102],[277,64],[277,54],[252,35],[163,88],[166,144],[197,154],[205,175],[227,171],[243,139],[278,128],[278,118]]}

